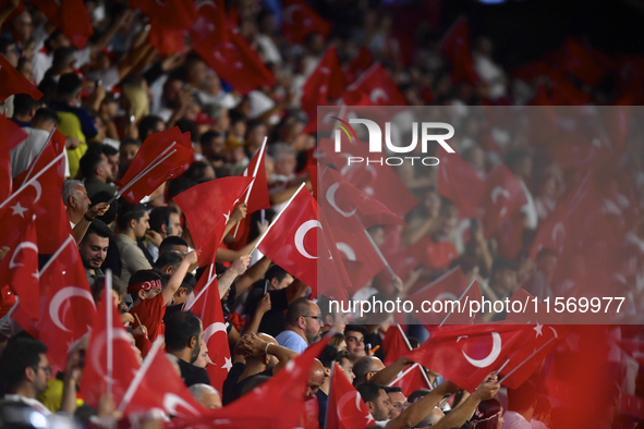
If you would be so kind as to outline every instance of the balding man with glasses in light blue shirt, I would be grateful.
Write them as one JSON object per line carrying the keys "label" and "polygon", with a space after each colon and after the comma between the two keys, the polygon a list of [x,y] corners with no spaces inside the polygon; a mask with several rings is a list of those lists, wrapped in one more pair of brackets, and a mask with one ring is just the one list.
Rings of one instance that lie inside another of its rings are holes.
{"label": "balding man with glasses in light blue shirt", "polygon": [[302,354],[321,335],[321,314],[317,305],[304,297],[289,304],[287,329],[277,335],[279,345]]}

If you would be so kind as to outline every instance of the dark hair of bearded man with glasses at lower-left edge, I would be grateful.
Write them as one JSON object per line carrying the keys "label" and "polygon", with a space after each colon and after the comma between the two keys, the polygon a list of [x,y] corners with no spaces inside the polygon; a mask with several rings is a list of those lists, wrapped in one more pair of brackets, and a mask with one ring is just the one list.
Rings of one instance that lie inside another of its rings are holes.
{"label": "dark hair of bearded man with glasses at lower-left edge", "polygon": [[36,368],[40,355],[46,353],[47,346],[26,332],[9,339],[1,361],[7,389],[11,392],[16,389],[25,378],[25,369]]}

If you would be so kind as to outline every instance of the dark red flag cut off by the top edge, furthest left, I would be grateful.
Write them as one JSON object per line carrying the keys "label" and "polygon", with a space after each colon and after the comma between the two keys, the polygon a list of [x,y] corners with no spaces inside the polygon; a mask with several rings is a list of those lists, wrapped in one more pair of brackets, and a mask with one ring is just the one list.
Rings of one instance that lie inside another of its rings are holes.
{"label": "dark red flag cut off by the top edge, furthest left", "polygon": [[85,49],[94,28],[83,0],[32,0],[31,3],[70,39],[74,48]]}

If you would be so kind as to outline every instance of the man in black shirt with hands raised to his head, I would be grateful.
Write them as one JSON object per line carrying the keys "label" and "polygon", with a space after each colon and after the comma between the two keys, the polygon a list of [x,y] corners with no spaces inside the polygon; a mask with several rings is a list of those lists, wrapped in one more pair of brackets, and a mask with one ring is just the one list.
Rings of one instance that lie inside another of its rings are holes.
{"label": "man in black shirt with hands raised to his head", "polygon": [[243,335],[235,346],[234,364],[223,382],[223,405],[240,397],[244,387],[254,378],[272,377],[297,356],[297,353],[278,345],[272,336],[265,333]]}

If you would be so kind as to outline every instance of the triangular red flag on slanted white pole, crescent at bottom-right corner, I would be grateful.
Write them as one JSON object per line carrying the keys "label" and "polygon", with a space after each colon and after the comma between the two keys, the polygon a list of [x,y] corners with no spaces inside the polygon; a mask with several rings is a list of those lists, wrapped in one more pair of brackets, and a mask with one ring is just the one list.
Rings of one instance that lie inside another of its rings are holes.
{"label": "triangular red flag on slanted white pole, crescent at bottom-right corner", "polygon": [[[203,416],[205,409],[185,387],[169,357],[163,353],[163,336],[158,338],[129,387],[123,415],[161,409],[170,416]],[[219,390],[218,390],[219,391]],[[220,392],[220,391],[219,391]],[[118,403],[118,402],[117,402]]]}

